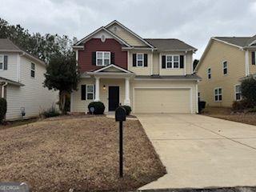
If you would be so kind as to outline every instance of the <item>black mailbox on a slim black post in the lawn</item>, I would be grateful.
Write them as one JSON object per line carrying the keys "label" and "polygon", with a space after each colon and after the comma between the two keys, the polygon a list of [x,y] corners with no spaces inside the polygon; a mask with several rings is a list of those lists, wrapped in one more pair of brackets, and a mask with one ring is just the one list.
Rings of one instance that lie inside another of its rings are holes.
{"label": "black mailbox on a slim black post in the lawn", "polygon": [[123,162],[122,162],[122,122],[126,121],[126,110],[119,106],[115,110],[115,121],[119,122],[119,177],[123,177]]}

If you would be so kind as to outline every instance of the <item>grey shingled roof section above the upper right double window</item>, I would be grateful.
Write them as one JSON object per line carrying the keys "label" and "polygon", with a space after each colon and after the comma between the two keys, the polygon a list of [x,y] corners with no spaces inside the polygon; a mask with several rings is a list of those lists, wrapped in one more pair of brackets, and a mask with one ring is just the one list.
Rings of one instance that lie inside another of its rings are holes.
{"label": "grey shingled roof section above the upper right double window", "polygon": [[193,46],[190,46],[177,38],[145,38],[145,40],[156,47],[159,51],[197,50]]}

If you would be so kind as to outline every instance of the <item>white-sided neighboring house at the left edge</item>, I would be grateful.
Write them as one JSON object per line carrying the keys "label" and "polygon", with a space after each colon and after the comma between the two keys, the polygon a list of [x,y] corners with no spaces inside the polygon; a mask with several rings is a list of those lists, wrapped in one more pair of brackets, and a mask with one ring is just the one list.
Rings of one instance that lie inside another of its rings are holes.
{"label": "white-sided neighboring house at the left edge", "polygon": [[46,63],[0,38],[0,97],[6,98],[6,120],[38,116],[55,105],[58,92],[43,87]]}

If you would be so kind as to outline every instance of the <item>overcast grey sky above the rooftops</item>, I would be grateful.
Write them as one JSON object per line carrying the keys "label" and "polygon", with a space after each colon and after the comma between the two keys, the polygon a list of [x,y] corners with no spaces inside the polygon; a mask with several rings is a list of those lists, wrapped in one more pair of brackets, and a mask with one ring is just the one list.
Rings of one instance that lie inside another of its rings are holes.
{"label": "overcast grey sky above the rooftops", "polygon": [[0,0],[0,17],[30,32],[78,39],[114,19],[142,38],[179,38],[198,48],[212,36],[256,34],[256,0]]}

